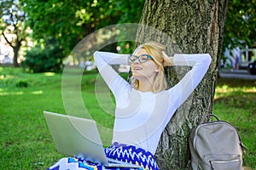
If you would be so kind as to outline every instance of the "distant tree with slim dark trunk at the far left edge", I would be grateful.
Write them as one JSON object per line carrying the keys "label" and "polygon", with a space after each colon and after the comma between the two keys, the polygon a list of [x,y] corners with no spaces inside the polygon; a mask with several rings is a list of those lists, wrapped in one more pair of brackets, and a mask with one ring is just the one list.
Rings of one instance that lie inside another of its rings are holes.
{"label": "distant tree with slim dark trunk at the far left edge", "polygon": [[[3,0],[0,2],[0,7],[0,33],[14,50],[14,65],[19,66],[18,57],[21,42],[26,41],[28,35],[25,25],[26,13],[17,0]],[[15,37],[8,35],[15,35]]]}

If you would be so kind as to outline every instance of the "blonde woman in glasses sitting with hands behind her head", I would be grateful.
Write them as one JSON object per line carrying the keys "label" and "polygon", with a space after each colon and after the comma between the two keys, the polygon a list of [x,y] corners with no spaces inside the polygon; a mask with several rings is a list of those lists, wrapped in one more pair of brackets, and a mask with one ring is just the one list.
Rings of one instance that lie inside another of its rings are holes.
{"label": "blonde woman in glasses sitting with hands behind her head", "polygon": [[[160,135],[173,113],[201,82],[211,63],[209,54],[168,57],[165,50],[158,42],[147,42],[132,55],[94,54],[97,68],[116,101],[113,144],[105,149],[108,157],[141,165],[142,169],[159,169],[154,154]],[[131,83],[120,77],[111,65],[131,65]],[[164,67],[172,65],[187,65],[192,69],[174,87],[166,89]],[[83,160],[74,161],[73,166],[82,162],[90,166]]]}

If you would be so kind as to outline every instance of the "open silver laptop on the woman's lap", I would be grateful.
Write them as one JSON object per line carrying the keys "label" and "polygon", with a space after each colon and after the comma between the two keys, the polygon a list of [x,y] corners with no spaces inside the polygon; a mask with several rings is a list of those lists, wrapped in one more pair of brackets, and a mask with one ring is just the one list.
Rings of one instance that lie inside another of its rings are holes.
{"label": "open silver laptop on the woman's lap", "polygon": [[105,155],[95,121],[49,111],[44,111],[44,117],[55,146],[60,153],[67,156],[82,157],[86,161],[98,163],[105,167],[140,167],[110,159]]}

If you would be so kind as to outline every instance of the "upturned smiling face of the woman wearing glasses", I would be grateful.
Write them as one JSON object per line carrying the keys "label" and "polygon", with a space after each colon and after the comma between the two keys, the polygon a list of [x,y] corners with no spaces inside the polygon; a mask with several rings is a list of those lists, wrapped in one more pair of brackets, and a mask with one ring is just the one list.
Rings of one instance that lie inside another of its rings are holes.
{"label": "upturned smiling face of the woman wearing glasses", "polygon": [[[142,54],[148,54],[144,48],[138,49],[134,55],[140,56]],[[140,63],[139,60],[136,59],[131,64],[131,72],[132,76],[139,81],[148,80],[153,82],[155,75],[159,72],[159,69],[153,59],[148,59],[144,63]]]}

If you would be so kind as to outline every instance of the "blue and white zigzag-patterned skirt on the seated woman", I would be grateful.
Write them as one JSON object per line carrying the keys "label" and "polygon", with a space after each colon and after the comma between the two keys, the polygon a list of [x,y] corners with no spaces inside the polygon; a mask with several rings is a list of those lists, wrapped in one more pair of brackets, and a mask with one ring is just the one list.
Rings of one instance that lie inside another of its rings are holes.
{"label": "blue and white zigzag-patterned skirt on the seated woman", "polygon": [[[106,156],[115,160],[125,161],[141,166],[137,170],[158,170],[154,156],[141,148],[132,145],[114,143],[105,149]],[[135,170],[127,167],[104,167],[102,165],[85,161],[79,157],[64,157],[55,165],[49,167],[49,170]]]}

